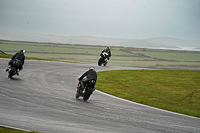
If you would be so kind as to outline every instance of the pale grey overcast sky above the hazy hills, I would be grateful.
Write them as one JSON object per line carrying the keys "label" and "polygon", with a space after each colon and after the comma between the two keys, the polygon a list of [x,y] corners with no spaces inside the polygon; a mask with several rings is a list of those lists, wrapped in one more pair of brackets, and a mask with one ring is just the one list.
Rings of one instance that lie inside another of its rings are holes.
{"label": "pale grey overcast sky above the hazy hills", "polygon": [[0,0],[0,32],[200,39],[200,0]]}

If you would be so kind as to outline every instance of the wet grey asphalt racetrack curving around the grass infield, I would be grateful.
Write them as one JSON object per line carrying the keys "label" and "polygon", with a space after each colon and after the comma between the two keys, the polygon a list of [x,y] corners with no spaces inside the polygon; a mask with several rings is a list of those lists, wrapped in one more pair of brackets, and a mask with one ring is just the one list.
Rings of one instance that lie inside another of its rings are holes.
{"label": "wet grey asphalt racetrack curving around the grass infield", "polygon": [[[88,70],[88,64],[26,60],[20,75],[8,80],[8,61],[0,59],[0,125],[41,133],[200,132],[199,118],[137,104],[98,90],[88,101],[76,99],[77,79]],[[137,69],[97,65],[95,68]]]}

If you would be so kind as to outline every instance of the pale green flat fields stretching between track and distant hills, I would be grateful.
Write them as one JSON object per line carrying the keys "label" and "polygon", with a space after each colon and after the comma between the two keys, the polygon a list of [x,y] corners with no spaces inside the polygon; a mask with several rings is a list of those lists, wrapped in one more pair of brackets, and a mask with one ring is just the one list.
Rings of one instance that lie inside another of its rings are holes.
{"label": "pale green flat fields stretching between track and distant hills", "polygon": [[[12,55],[25,49],[27,57],[97,64],[99,54],[105,47],[0,40],[0,48]],[[197,51],[111,47],[111,52],[108,65],[112,66],[200,70],[200,52]]]}

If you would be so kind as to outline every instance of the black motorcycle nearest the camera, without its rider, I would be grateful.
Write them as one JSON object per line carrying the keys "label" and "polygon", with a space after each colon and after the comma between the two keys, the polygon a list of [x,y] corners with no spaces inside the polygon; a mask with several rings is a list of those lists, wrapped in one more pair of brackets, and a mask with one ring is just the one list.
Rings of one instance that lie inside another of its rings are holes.
{"label": "black motorcycle nearest the camera, without its rider", "polygon": [[79,81],[77,91],[76,91],[76,99],[79,97],[83,97],[84,101],[87,101],[93,91],[95,90],[94,85],[95,85],[95,80],[88,80],[85,81],[85,79],[82,80],[82,84],[84,84],[84,88],[81,89],[81,83]]}

